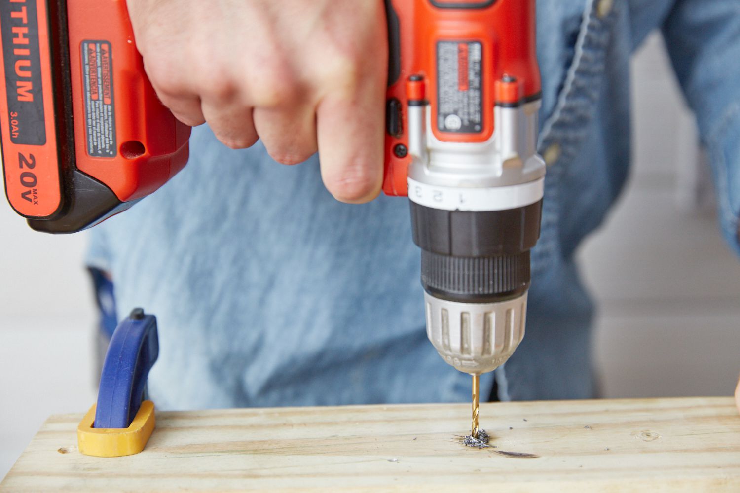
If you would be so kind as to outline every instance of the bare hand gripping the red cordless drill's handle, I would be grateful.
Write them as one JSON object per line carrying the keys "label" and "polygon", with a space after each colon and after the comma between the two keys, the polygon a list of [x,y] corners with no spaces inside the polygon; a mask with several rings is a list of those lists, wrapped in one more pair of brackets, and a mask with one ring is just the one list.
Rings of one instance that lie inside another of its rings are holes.
{"label": "bare hand gripping the red cordless drill's handle", "polygon": [[178,120],[284,164],[321,154],[338,200],[383,180],[383,1],[127,0],[152,85]]}

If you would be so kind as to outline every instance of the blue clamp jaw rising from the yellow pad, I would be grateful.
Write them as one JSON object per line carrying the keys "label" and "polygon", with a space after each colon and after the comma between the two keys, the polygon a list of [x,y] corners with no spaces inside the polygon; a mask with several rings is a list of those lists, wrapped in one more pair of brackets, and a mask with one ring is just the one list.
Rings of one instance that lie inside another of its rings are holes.
{"label": "blue clamp jaw rising from the yellow pad", "polygon": [[94,428],[128,428],[159,356],[157,319],[136,308],[115,328],[100,376]]}

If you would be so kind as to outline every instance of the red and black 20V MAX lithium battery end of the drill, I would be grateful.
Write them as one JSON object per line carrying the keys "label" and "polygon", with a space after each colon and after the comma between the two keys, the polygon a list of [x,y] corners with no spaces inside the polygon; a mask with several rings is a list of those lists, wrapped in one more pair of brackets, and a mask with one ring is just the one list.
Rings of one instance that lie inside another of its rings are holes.
{"label": "red and black 20V MAX lithium battery end of the drill", "polygon": [[0,0],[5,192],[31,228],[73,233],[186,164],[190,128],[157,98],[125,0]]}

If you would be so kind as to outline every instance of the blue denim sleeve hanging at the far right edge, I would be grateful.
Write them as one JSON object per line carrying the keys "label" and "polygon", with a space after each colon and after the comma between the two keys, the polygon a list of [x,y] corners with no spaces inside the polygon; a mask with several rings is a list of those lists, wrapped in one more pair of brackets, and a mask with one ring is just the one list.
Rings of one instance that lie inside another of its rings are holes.
{"label": "blue denim sleeve hanging at the far right edge", "polygon": [[710,155],[722,231],[740,255],[740,2],[676,0],[663,35]]}

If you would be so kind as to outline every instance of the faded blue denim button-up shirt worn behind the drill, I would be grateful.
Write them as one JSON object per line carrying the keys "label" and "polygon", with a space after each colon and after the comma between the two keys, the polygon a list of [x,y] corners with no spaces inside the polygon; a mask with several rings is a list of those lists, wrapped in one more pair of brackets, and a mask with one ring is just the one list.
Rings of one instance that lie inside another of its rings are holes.
{"label": "faded blue denim button-up shirt worn behind the drill", "polygon": [[[719,220],[740,253],[740,2],[542,0],[540,152],[548,161],[527,335],[481,392],[593,396],[593,304],[573,252],[630,162],[630,53],[660,27],[713,163]],[[149,378],[169,409],[467,401],[468,375],[427,341],[408,203],[338,203],[317,158],[277,166],[195,129],[189,165],[92,231],[90,265],[118,307],[159,320]]]}

